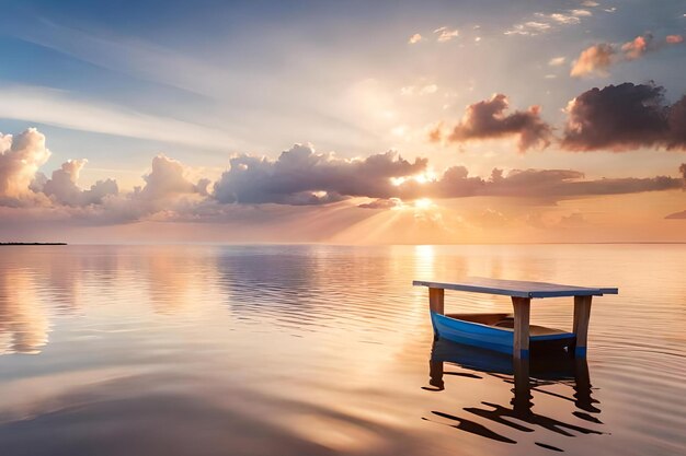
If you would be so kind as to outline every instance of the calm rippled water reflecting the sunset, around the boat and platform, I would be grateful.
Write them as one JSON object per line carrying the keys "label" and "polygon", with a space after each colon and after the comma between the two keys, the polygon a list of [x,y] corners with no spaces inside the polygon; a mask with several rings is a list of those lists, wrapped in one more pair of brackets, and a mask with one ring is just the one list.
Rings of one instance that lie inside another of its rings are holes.
{"label": "calm rippled water reflecting the sunset, around the boat and platform", "polygon": [[[411,281],[465,276],[620,294],[529,381],[434,347]],[[684,245],[0,249],[1,455],[684,455],[685,377]]]}

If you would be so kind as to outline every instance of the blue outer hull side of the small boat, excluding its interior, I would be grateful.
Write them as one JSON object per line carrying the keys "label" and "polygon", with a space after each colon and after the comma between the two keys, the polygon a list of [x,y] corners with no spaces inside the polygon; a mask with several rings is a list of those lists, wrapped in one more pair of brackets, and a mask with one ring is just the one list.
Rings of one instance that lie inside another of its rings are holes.
{"label": "blue outer hull side of the small boat, excluding its interior", "polygon": [[[513,353],[514,332],[512,329],[450,318],[435,312],[431,313],[431,321],[434,332],[441,339],[501,353]],[[529,351],[564,350],[571,353],[573,352],[575,340],[575,336],[572,332],[530,336]]]}

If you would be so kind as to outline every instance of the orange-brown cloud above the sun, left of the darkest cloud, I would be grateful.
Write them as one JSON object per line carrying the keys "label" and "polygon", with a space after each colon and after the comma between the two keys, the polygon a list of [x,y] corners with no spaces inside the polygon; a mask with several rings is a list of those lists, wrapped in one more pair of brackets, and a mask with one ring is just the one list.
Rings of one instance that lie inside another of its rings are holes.
{"label": "orange-brown cloud above the sun, left of the darkest cloud", "polygon": [[[507,96],[495,94],[490,100],[467,107],[462,119],[453,128],[448,141],[465,142],[502,137],[518,137],[519,152],[550,144],[551,128],[540,118],[540,107],[505,114]],[[432,137],[437,136],[432,132]]]}

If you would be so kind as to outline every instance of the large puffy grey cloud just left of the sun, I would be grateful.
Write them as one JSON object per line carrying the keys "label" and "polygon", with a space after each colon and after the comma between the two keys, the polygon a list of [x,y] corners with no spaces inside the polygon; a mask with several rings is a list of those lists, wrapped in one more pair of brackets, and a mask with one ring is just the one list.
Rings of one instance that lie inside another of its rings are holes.
{"label": "large puffy grey cloud just left of the sun", "polygon": [[239,155],[230,169],[215,184],[220,202],[323,204],[348,197],[389,198],[391,177],[405,177],[425,171],[427,161],[408,162],[395,152],[364,160],[336,159],[320,154],[311,145],[296,144],[276,161]]}

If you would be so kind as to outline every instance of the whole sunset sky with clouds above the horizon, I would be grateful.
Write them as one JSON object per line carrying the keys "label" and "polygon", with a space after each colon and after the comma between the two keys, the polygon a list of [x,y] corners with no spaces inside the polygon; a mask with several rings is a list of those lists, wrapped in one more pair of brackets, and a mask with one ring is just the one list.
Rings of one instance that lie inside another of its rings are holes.
{"label": "whole sunset sky with clouds above the horizon", "polygon": [[0,241],[686,242],[686,0],[0,5]]}

